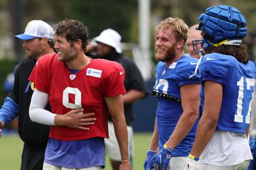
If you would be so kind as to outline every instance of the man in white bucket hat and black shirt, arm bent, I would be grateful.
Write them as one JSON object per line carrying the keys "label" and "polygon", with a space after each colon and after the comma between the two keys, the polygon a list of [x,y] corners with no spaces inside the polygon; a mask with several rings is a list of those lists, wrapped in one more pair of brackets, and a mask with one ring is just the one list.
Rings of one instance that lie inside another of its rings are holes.
{"label": "man in white bucket hat and black shirt, arm bent", "polygon": [[[123,99],[125,120],[127,123],[127,131],[129,135],[129,157],[132,164],[132,121],[134,120],[134,115],[132,113],[132,103],[147,96],[147,87],[136,64],[131,59],[129,59],[129,57],[125,57],[123,55],[120,48],[121,36],[120,34],[118,34],[118,32],[113,29],[105,29],[100,33],[99,36],[94,38],[93,41],[96,41],[97,46],[94,46],[93,48],[93,46],[90,45],[89,49],[97,49],[98,58],[116,61],[121,64],[125,69],[124,86],[127,92],[123,94]],[[111,159],[113,169],[117,170],[121,164],[121,156],[120,150],[118,149],[118,143],[116,140],[111,117],[108,117],[108,127],[109,139],[105,139],[106,154]]]}

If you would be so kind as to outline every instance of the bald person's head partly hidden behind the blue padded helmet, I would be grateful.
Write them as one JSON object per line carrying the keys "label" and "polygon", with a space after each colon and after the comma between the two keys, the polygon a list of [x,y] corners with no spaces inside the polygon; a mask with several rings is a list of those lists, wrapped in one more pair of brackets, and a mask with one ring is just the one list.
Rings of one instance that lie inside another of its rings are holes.
{"label": "bald person's head partly hidden behind the blue padded helmet", "polygon": [[[193,40],[202,39],[201,31],[196,30],[196,26],[197,25],[192,25],[188,29],[188,39],[186,41],[186,49],[187,49],[188,53],[186,53],[185,55],[199,59],[200,56],[198,55],[198,53],[195,53],[194,48],[193,48],[193,43],[192,43]],[[197,48],[198,49],[201,48],[200,43],[197,44]]]}

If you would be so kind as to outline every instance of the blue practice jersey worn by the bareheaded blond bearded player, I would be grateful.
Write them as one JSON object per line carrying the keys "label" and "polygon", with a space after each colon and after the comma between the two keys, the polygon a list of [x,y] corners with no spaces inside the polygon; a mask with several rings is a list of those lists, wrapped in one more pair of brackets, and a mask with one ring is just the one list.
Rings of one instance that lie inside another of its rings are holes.
{"label": "blue practice jersey worn by the bareheaded blond bearded player", "polygon": [[[156,67],[156,85],[154,86],[154,92],[168,94],[180,99],[180,86],[200,83],[198,75],[189,78],[189,76],[194,73],[197,62],[198,59],[185,55],[177,60],[177,62],[173,62],[169,67],[166,67],[165,62],[159,62]],[[181,103],[164,97],[158,97],[156,117],[157,130],[159,132],[159,150],[172,135],[182,113]],[[196,125],[197,123],[180,144],[175,147],[172,157],[188,156],[191,146],[194,143]]]}

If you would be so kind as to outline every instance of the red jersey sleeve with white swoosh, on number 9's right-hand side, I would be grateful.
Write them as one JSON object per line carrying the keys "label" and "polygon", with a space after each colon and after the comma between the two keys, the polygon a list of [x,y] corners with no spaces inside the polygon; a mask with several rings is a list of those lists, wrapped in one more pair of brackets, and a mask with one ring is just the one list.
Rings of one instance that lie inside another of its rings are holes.
{"label": "red jersey sleeve with white swoosh, on number 9's right-hand side", "polygon": [[114,97],[120,94],[125,94],[124,79],[125,71],[124,68],[117,62],[109,62],[106,66],[106,72],[108,74],[104,78],[104,96]]}

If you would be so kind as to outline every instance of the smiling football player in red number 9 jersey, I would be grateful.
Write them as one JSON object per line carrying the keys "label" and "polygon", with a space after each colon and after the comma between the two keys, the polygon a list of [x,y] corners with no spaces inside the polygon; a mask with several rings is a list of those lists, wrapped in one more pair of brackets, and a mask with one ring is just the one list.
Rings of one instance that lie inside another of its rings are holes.
{"label": "smiling football player in red number 9 jersey", "polygon": [[[113,118],[120,147],[120,169],[132,169],[122,99],[124,68],[117,62],[84,55],[88,30],[82,22],[63,20],[54,29],[54,48],[58,54],[43,56],[29,77],[36,88],[29,108],[31,120],[51,125],[44,169],[102,169],[108,113]],[[44,110],[47,101],[52,112]],[[95,124],[84,127],[79,118],[83,113],[95,113]],[[63,118],[69,114],[81,124],[63,126],[63,120],[67,120]]]}

